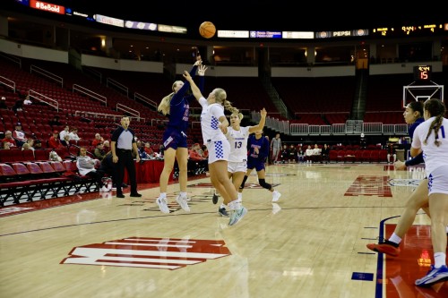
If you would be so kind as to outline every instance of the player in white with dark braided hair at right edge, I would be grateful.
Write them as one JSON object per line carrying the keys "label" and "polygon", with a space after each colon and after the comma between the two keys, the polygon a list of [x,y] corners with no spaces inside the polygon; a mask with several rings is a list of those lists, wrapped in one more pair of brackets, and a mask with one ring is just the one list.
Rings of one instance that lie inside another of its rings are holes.
{"label": "player in white with dark braided hair at right edge", "polygon": [[441,100],[426,100],[425,122],[416,128],[410,148],[412,157],[423,150],[435,260],[426,276],[416,280],[418,286],[429,286],[448,280],[445,234],[445,226],[448,224],[448,119],[444,118],[445,111]]}

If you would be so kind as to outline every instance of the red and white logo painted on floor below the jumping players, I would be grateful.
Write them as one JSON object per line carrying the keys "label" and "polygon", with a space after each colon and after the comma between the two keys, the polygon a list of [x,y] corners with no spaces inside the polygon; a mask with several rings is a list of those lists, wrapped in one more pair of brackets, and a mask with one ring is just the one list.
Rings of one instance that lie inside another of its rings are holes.
{"label": "red and white logo painted on floor below the jumping players", "polygon": [[231,255],[222,240],[130,237],[78,246],[61,264],[175,270]]}

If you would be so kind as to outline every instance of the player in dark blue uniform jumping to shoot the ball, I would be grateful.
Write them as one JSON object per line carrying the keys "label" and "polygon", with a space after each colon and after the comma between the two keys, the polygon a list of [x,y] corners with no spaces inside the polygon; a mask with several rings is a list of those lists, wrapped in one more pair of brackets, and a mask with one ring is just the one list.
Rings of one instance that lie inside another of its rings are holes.
{"label": "player in dark blue uniform jumping to shoot the ball", "polygon": [[[195,76],[197,68],[202,64],[201,56],[197,56],[197,60],[190,71],[191,77]],[[203,75],[199,83],[200,89],[203,88]],[[186,143],[186,132],[188,129],[188,116],[190,115],[190,101],[194,99],[192,94],[187,95],[190,89],[188,81],[175,81],[172,86],[173,92],[162,98],[158,110],[163,115],[168,115],[168,123],[163,133],[162,144],[164,147],[164,165],[160,174],[159,198],[156,200],[160,211],[169,213],[167,188],[169,175],[171,175],[175,160],[179,166],[179,186],[180,192],[177,195],[177,203],[185,211],[190,211],[188,206],[188,198],[186,195],[187,182],[187,163],[188,163],[188,145]]]}

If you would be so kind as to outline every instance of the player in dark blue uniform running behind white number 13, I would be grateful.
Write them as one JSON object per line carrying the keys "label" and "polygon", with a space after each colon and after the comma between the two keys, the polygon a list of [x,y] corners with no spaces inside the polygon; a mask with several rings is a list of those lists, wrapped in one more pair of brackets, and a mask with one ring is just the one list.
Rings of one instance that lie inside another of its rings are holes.
{"label": "player in dark blue uniform running behind white number 13", "polygon": [[280,199],[281,193],[277,192],[270,183],[266,183],[265,176],[265,163],[266,158],[269,156],[269,140],[263,136],[263,130],[255,132],[247,140],[247,146],[249,149],[247,156],[247,171],[243,179],[243,183],[239,186],[238,192],[242,193],[245,188],[245,183],[252,170],[255,169],[258,175],[258,183],[268,191],[272,192],[272,201],[276,202]]}

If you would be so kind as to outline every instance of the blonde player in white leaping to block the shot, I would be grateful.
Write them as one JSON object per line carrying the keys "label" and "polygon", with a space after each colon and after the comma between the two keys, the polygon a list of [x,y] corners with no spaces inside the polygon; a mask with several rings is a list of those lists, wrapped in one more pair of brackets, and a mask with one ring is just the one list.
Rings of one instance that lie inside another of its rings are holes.
{"label": "blonde player in white leaping to block the shot", "polygon": [[[206,69],[204,65],[201,65],[198,73],[202,74]],[[237,190],[230,182],[230,179],[228,179],[228,175],[226,175],[230,145],[224,135],[228,128],[228,120],[224,115],[224,108],[232,113],[238,113],[238,110],[227,100],[227,93],[224,89],[213,89],[208,98],[205,99],[191,75],[188,72],[184,72],[184,77],[186,81],[190,82],[194,98],[202,106],[202,139],[207,149],[209,149],[211,184],[220,192],[224,198],[224,203],[228,204],[231,212],[228,226],[233,226],[246,215],[247,209],[238,200]]]}

